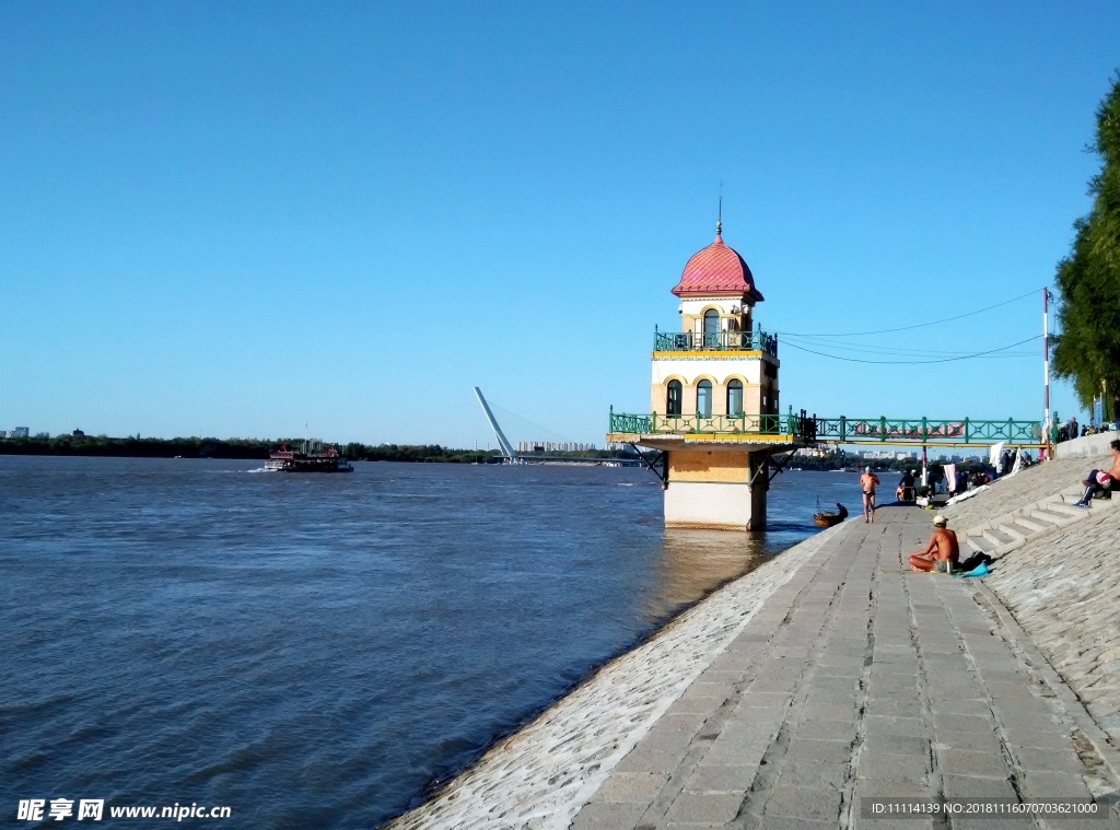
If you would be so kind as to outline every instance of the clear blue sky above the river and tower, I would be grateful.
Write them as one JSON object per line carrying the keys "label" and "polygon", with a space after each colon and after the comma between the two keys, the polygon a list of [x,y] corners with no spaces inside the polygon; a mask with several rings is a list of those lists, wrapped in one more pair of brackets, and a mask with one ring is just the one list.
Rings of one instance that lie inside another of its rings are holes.
{"label": "clear blue sky above the river and tower", "polygon": [[[0,6],[0,428],[469,446],[477,384],[514,440],[601,444],[648,409],[720,181],[768,329],[1035,290],[857,342],[1033,337],[1117,31],[1113,3]],[[780,345],[783,408],[1040,417],[1040,344],[1009,351]]]}

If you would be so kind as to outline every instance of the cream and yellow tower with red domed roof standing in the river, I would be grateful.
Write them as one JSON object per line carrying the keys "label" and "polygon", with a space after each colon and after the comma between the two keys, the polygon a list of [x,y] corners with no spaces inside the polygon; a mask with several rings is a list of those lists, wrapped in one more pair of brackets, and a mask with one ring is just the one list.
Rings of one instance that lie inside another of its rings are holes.
{"label": "cream and yellow tower with red domed roof standing in the river", "polygon": [[813,421],[780,414],[777,337],[755,323],[763,295],[721,222],[672,293],[681,329],[654,329],[650,414],[612,411],[607,440],[660,454],[665,526],[762,530],[769,457],[810,442]]}

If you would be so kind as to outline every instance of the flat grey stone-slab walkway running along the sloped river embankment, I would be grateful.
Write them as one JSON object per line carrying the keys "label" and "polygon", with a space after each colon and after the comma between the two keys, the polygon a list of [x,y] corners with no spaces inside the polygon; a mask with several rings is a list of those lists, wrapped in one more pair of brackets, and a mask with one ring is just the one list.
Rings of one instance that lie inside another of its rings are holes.
{"label": "flat grey stone-slab walkway running along the sloped river embankment", "polygon": [[[934,823],[868,820],[860,799],[1116,792],[1103,734],[992,594],[903,567],[930,519],[884,509],[828,538],[614,766],[573,830],[887,830]],[[1051,826],[1116,824],[937,824]]]}

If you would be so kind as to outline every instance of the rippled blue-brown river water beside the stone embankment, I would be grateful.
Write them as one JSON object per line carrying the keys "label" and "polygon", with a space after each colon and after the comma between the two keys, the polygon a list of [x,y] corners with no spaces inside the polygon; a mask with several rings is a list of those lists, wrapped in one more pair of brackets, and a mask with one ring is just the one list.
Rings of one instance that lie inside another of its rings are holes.
{"label": "rippled blue-brown river water beside the stone embankment", "polygon": [[811,535],[818,498],[859,512],[852,474],[778,476],[738,534],[665,531],[641,469],[355,467],[0,456],[0,815],[374,827]]}

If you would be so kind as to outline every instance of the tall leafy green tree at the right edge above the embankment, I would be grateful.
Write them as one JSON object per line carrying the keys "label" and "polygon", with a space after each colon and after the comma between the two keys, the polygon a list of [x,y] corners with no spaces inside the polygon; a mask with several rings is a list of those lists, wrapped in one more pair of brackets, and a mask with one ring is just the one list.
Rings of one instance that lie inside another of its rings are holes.
{"label": "tall leafy green tree at the right edge above the embankment", "polygon": [[1120,395],[1120,73],[1096,110],[1091,149],[1102,162],[1089,183],[1093,207],[1074,224],[1073,249],[1057,267],[1054,373],[1073,381],[1084,405],[1103,392],[1111,408]]}

